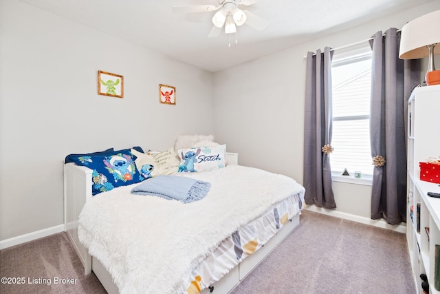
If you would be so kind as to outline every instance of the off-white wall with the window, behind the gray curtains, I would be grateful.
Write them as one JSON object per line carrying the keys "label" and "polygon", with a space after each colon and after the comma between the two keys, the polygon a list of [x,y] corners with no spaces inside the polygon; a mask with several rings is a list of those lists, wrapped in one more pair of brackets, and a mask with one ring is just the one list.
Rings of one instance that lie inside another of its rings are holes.
{"label": "off-white wall with the window, behind the gray curtains", "polygon": [[[217,138],[228,142],[228,149],[239,152],[242,165],[286,174],[302,183],[307,51],[368,40],[379,30],[401,28],[439,9],[440,1],[433,1],[214,73],[214,116],[222,122],[215,125]],[[338,208],[325,212],[370,217],[370,186],[338,182],[333,188]]]}

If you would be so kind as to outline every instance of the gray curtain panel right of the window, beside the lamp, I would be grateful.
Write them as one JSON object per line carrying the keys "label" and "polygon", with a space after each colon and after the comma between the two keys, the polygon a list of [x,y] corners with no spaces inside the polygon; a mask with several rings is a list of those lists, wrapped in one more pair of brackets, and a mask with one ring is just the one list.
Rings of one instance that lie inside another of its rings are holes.
{"label": "gray curtain panel right of the window, beside the lamp", "polygon": [[371,218],[406,222],[406,111],[420,81],[420,61],[399,59],[400,32],[377,32],[371,74],[370,140],[373,170]]}

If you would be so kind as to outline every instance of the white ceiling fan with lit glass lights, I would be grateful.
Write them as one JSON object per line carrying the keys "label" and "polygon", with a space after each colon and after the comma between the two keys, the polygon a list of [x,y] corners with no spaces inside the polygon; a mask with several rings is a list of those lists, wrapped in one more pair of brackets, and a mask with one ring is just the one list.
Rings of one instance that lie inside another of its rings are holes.
{"label": "white ceiling fan with lit glass lights", "polygon": [[225,34],[236,33],[236,27],[246,23],[255,30],[264,30],[269,24],[261,17],[256,16],[248,10],[241,10],[239,6],[250,6],[258,2],[257,0],[219,0],[219,6],[214,5],[189,5],[189,6],[173,6],[174,12],[191,13],[191,12],[211,12],[217,11],[212,17],[214,26],[208,34],[213,38],[219,36],[223,25],[225,26]]}

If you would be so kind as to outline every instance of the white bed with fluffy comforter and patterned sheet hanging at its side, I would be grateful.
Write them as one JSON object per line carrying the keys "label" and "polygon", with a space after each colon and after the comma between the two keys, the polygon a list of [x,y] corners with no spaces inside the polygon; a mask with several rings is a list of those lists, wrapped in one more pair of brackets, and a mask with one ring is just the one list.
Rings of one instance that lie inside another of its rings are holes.
{"label": "white bed with fluffy comforter and patterned sheet hanging at its side", "polygon": [[292,178],[238,165],[225,147],[220,168],[190,172],[179,151],[181,172],[162,174],[208,183],[201,199],[131,193],[155,175],[93,195],[96,170],[65,163],[65,231],[108,293],[229,293],[298,226],[305,190]]}

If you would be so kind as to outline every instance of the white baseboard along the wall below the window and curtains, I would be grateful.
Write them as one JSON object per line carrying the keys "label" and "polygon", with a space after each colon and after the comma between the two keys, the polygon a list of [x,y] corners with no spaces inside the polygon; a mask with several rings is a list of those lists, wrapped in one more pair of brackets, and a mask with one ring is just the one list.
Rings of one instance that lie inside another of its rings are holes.
{"label": "white baseboard along the wall below the window and curtains", "polygon": [[406,224],[388,224],[385,220],[371,220],[371,218],[366,218],[364,216],[355,216],[354,214],[336,211],[333,209],[325,209],[322,207],[316,207],[315,205],[307,205],[307,210],[315,211],[322,214],[327,214],[327,216],[334,216],[336,218],[343,218],[344,220],[352,220],[353,222],[360,222],[362,224],[370,224],[374,227],[379,227],[382,229],[388,229],[391,231],[396,231],[399,233],[406,233]]}

